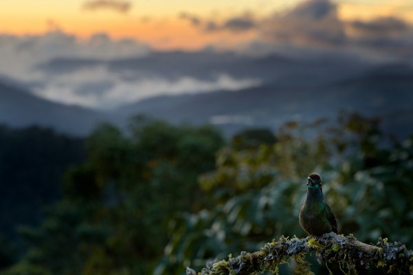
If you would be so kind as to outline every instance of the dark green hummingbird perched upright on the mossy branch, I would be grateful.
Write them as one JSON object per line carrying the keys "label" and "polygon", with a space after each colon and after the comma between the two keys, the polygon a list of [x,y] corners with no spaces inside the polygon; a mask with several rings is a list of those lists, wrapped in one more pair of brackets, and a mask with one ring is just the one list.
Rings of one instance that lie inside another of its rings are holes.
{"label": "dark green hummingbird perched upright on the mossy branch", "polygon": [[307,179],[307,197],[299,211],[299,224],[310,235],[338,232],[337,219],[324,201],[321,177],[311,174]]}

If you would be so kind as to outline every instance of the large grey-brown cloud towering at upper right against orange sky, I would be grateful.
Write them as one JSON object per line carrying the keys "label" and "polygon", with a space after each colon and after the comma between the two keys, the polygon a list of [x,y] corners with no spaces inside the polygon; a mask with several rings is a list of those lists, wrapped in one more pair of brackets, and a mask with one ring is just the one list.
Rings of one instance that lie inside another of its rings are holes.
{"label": "large grey-brown cloud towering at upper right against orange sky", "polygon": [[[353,56],[374,62],[413,63],[413,26],[396,17],[343,21],[330,0],[307,0],[284,13],[255,21],[257,36],[241,53],[318,58]],[[219,26],[211,28],[220,30]]]}

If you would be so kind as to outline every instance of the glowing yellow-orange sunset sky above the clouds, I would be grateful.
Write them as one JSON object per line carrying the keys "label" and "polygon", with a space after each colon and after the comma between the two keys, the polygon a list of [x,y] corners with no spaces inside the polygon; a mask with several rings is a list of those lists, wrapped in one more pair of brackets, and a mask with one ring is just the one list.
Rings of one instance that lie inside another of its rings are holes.
{"label": "glowing yellow-orange sunset sky above the clouds", "polygon": [[[61,30],[87,38],[106,33],[114,39],[133,38],[155,49],[196,50],[218,43],[236,44],[252,39],[253,28],[243,32],[207,32],[208,24],[224,24],[243,17],[265,20],[288,11],[298,0],[6,0],[0,3],[0,32],[43,34]],[[397,17],[413,23],[410,0],[339,0],[343,21]]]}

